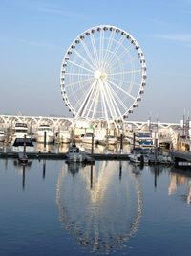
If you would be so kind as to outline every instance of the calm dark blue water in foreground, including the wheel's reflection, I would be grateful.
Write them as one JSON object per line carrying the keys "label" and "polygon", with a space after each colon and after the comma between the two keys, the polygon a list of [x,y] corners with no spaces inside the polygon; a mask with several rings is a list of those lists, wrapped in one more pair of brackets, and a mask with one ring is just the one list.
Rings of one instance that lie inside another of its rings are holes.
{"label": "calm dark blue water in foreground, including the wheel's reflection", "polygon": [[0,255],[190,255],[190,174],[0,159]]}

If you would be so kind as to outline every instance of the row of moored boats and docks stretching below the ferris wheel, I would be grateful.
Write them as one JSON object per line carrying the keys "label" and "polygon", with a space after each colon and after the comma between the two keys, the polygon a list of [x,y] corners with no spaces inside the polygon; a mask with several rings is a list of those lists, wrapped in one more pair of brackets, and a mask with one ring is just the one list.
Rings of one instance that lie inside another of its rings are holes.
{"label": "row of moored boats and docks stretching below the ferris wheel", "polygon": [[[41,117],[36,125],[32,119],[36,121],[37,117],[0,116],[1,130],[4,130],[0,157],[18,158],[18,153],[24,151],[26,144],[25,153],[30,159],[65,159],[74,141],[83,152],[81,158],[94,159],[91,161],[131,159],[144,164],[191,161],[189,128],[187,136],[181,136],[183,131],[179,124],[159,125],[135,121],[127,122],[122,129],[117,129],[115,126],[108,128],[106,123],[97,121],[83,121],[79,126],[71,119]],[[51,119],[59,123],[54,121],[54,125],[48,125]],[[65,151],[60,150],[63,146]]]}

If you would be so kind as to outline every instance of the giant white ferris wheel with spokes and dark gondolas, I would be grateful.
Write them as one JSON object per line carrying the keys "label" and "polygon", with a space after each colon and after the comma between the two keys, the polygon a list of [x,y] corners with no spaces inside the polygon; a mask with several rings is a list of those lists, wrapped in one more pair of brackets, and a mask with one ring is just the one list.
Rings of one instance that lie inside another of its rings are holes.
{"label": "giant white ferris wheel with spokes and dark gondolas", "polygon": [[74,117],[120,122],[138,106],[146,63],[138,41],[110,25],[78,35],[62,60],[61,93]]}

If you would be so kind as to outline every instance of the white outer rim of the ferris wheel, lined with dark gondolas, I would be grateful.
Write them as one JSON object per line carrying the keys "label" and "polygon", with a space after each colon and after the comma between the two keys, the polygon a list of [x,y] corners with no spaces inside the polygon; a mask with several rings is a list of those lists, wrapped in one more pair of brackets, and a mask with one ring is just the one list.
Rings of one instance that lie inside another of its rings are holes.
{"label": "white outer rim of the ferris wheel, lined with dark gondolas", "polygon": [[[135,107],[138,106],[138,102],[141,100],[141,96],[142,94],[144,93],[144,87],[146,85],[146,78],[147,78],[147,75],[146,75],[146,63],[145,63],[145,58],[144,58],[144,54],[138,44],[138,41],[135,39],[135,37],[133,35],[130,35],[129,33],[127,33],[125,30],[117,27],[117,26],[114,26],[114,25],[97,25],[97,26],[94,26],[94,27],[91,27],[87,30],[85,30],[84,32],[82,32],[80,35],[77,35],[74,39],[74,41],[71,43],[71,45],[68,47],[65,55],[64,55],[64,58],[62,60],[62,64],[61,64],[61,71],[60,71],[60,87],[61,87],[61,93],[62,93],[62,97],[63,97],[63,100],[66,104],[66,106],[68,106],[69,108],[69,111],[71,111],[73,113],[73,115],[76,117],[76,116],[80,116],[79,113],[77,113],[77,111],[74,109],[74,106],[71,104],[70,102],[70,99],[68,98],[67,96],[67,92],[66,92],[66,84],[64,82],[64,76],[63,76],[63,70],[64,70],[64,65],[66,64],[67,62],[67,58],[69,57],[69,53],[73,50],[73,46],[76,44],[76,43],[80,43],[80,38],[81,36],[85,36],[87,35],[88,33],[91,35],[91,33],[95,33],[94,31],[101,31],[103,30],[111,30],[111,31],[115,31],[116,33],[120,32],[121,35],[125,35],[127,36],[127,38],[129,40],[131,40],[132,44],[135,46],[136,50],[138,51],[138,59],[140,61],[140,70],[139,72],[141,72],[141,81],[139,82],[139,89],[138,89],[138,93],[135,97],[135,101],[132,103],[132,105],[130,105],[126,111],[124,111],[122,113],[122,115],[119,116],[119,119],[123,120],[125,119],[126,117],[128,117],[129,114],[133,113],[133,109]],[[87,62],[85,59],[83,59],[84,62]],[[77,65],[75,63],[75,65]],[[93,70],[91,69],[88,69],[88,68],[84,68],[86,70],[86,72],[92,72],[92,76],[94,76],[95,79],[97,79],[97,77],[100,76],[100,74],[98,74],[98,70],[96,70],[94,73],[93,73]],[[83,74],[81,74],[82,76]],[[86,76],[91,76],[91,75],[87,75]],[[76,74],[77,76],[77,74]],[[85,117],[85,116],[82,116],[82,117]],[[87,116],[87,118],[89,118]],[[101,118],[99,117],[100,119],[105,119],[105,118]],[[90,119],[93,119],[93,118],[90,118]],[[96,118],[94,118],[96,119]],[[113,118],[114,119],[114,118]]]}

